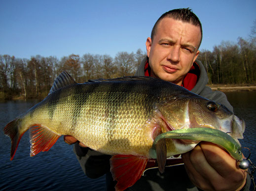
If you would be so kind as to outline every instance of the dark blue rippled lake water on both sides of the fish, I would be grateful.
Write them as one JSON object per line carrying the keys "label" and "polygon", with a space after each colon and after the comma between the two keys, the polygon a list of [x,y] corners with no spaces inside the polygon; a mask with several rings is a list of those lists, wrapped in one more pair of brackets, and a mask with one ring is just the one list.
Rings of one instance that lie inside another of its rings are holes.
{"label": "dark blue rippled lake water on both sides of the fish", "polygon": [[[246,121],[242,146],[251,149],[251,161],[256,163],[256,91],[227,92],[235,114]],[[77,162],[73,146],[63,141],[63,136],[48,152],[30,157],[29,134],[22,137],[13,161],[10,161],[10,139],[3,135],[4,126],[17,115],[34,106],[36,101],[0,102],[0,190],[48,191],[77,190],[102,191],[105,177],[87,178]],[[245,156],[248,151],[243,150]]]}

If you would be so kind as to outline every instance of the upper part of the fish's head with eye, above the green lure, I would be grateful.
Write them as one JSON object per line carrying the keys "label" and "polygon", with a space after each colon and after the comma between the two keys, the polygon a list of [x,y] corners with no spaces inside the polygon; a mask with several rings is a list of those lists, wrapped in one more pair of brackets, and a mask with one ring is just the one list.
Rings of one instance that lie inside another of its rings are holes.
{"label": "upper part of the fish's head with eye, above the green lure", "polygon": [[177,95],[158,107],[165,122],[163,133],[187,128],[212,128],[243,138],[245,122],[224,105],[201,96]]}

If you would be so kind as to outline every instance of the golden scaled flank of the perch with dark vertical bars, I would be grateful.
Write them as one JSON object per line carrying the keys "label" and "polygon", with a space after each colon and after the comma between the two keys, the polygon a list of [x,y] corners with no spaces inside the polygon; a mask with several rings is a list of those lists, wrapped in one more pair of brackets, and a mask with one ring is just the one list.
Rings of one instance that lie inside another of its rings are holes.
{"label": "golden scaled flank of the perch with dark vertical bars", "polygon": [[[52,98],[55,94],[56,100]],[[73,135],[95,150],[112,154],[120,152],[115,147],[117,145],[121,147],[121,153],[134,153],[152,144],[146,122],[152,117],[152,105],[158,99],[156,95],[159,95],[157,89],[146,83],[76,84],[49,95],[45,100],[47,104],[41,104],[47,106],[49,119],[45,117],[37,121],[42,126],[55,127],[55,132],[65,124],[59,134]],[[42,110],[38,108],[37,115]],[[142,145],[141,148],[137,148],[138,145]]]}

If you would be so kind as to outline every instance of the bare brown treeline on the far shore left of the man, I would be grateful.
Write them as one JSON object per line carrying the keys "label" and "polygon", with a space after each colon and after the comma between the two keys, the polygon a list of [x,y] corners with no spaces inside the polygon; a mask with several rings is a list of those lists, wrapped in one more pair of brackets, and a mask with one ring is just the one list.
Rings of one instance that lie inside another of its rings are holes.
{"label": "bare brown treeline on the far shore left of the man", "polygon": [[54,79],[67,71],[76,82],[89,79],[109,79],[132,76],[146,53],[138,49],[136,53],[118,52],[110,55],[84,54],[64,56],[60,60],[54,56],[32,56],[30,59],[0,55],[0,99],[22,96],[44,98]]}

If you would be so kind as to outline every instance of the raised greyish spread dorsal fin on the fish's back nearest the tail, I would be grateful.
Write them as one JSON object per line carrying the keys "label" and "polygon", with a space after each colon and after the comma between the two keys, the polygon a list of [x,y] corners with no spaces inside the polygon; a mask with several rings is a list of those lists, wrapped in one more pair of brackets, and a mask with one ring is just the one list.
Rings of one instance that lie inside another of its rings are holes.
{"label": "raised greyish spread dorsal fin on the fish's back nearest the tail", "polygon": [[72,85],[72,84],[76,84],[76,82],[74,82],[73,78],[68,74],[68,72],[63,71],[54,81],[51,89],[50,89],[50,93],[56,91],[57,89],[60,89],[62,87],[68,86],[68,85]]}

